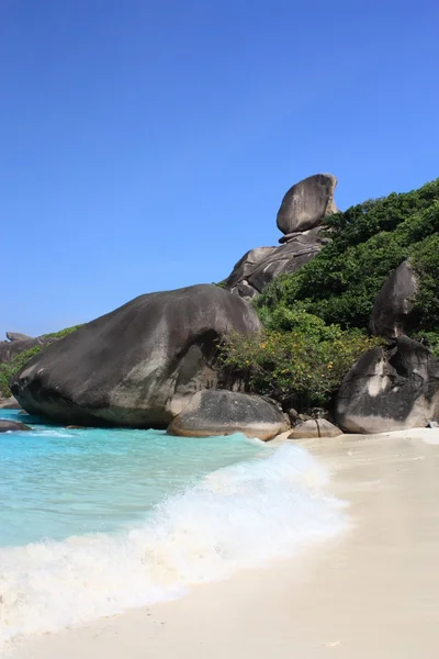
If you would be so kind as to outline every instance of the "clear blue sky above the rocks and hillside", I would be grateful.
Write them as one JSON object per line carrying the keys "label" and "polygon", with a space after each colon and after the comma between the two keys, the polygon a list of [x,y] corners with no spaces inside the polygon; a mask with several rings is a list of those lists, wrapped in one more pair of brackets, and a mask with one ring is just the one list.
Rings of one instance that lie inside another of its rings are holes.
{"label": "clear blue sky above the rocks and hillside", "polygon": [[1,0],[0,334],[223,279],[282,196],[439,176],[436,0]]}

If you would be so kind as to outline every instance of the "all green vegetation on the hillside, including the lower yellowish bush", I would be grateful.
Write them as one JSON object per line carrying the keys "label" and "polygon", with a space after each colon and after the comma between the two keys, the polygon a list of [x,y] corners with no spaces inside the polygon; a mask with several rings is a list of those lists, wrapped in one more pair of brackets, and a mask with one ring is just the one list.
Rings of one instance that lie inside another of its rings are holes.
{"label": "all green vegetation on the hillside, including the lower yellowish bush", "polygon": [[369,336],[373,302],[390,272],[410,258],[419,276],[414,337],[439,357],[439,179],[370,200],[326,221],[331,242],[255,301],[263,337],[233,337],[225,361],[248,369],[252,391],[283,407],[327,405]]}

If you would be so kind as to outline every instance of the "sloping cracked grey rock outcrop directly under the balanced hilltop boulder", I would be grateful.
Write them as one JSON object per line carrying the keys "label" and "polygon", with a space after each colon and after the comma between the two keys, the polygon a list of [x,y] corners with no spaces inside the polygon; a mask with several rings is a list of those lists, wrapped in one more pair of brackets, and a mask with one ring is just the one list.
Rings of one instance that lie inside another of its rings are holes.
{"label": "sloping cracked grey rock outcrop directly under the balanced hilltop boulder", "polygon": [[279,275],[295,272],[323,248],[315,235],[297,234],[280,247],[251,249],[236,264],[226,288],[241,298],[254,298]]}

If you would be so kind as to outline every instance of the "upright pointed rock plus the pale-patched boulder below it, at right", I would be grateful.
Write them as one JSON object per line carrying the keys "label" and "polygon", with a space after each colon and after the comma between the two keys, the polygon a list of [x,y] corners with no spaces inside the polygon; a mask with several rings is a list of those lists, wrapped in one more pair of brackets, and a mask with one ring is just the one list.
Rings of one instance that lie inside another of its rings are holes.
{"label": "upright pointed rock plus the pale-patched boulder below it, at right", "polygon": [[439,362],[408,338],[416,324],[419,282],[409,260],[384,282],[373,305],[371,330],[387,339],[353,365],[337,394],[336,418],[351,433],[426,427],[439,421]]}

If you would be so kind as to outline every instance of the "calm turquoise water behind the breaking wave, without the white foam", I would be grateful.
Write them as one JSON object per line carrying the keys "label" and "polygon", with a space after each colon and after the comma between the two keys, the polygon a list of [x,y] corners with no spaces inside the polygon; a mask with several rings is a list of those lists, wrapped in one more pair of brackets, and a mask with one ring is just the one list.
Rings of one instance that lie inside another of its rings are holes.
{"label": "calm turquoise water behind the breaking wave, without the white foam", "polygon": [[210,471],[267,450],[243,435],[32,427],[0,434],[0,547],[116,530]]}

